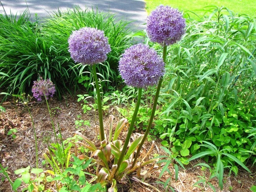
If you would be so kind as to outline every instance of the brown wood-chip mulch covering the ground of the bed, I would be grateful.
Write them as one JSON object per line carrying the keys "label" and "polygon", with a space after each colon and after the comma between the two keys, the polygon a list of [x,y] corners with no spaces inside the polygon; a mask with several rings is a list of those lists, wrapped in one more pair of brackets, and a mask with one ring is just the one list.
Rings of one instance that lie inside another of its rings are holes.
{"label": "brown wood-chip mulch covering the ground of the bed", "polygon": [[[76,102],[76,99],[69,97],[68,99],[63,99],[62,101],[58,101],[55,98],[53,100],[49,100],[50,107],[59,106],[62,108],[62,113],[59,116],[59,123],[62,130],[62,137],[65,140],[66,138],[72,137],[74,132],[79,130],[83,135],[87,136],[90,139],[94,139],[96,136],[96,132],[94,129],[95,126],[95,113],[93,109],[86,114],[83,114],[80,103]],[[8,167],[7,171],[10,178],[14,181],[17,178],[17,175],[14,174],[14,170],[31,166],[35,167],[35,139],[34,132],[32,129],[32,123],[27,110],[23,109],[23,106],[16,106],[12,101],[5,102],[2,104],[3,107],[6,108],[6,113],[1,113],[0,116],[0,162],[3,167]],[[47,110],[47,106],[45,103],[37,103],[33,102],[31,104],[31,112],[33,119],[35,121],[35,129],[36,135],[38,139],[38,156],[39,156],[39,166],[46,170],[47,168],[41,165],[41,162],[44,160],[42,154],[45,152],[46,144],[43,143],[43,136],[46,134],[53,133],[51,122],[49,120],[49,114]],[[112,114],[115,116],[114,121],[117,123],[120,119],[118,112],[116,111],[114,106],[111,106],[108,111],[104,114],[104,119],[106,122],[108,120],[108,115]],[[81,120],[89,120],[90,126],[81,126],[78,129],[75,126],[75,120],[78,120],[77,116],[81,116]],[[11,135],[7,135],[10,129],[17,129],[15,133],[16,138],[12,139]],[[49,131],[49,132],[48,132]],[[142,131],[138,131],[139,133],[143,133]],[[122,138],[125,138],[125,133]],[[54,140],[54,136],[52,134],[52,140]],[[160,140],[156,140],[156,146],[153,148],[152,154],[160,154],[163,155],[164,152],[160,148]],[[151,143],[146,142],[145,144],[146,150],[151,147]],[[177,192],[189,192],[202,191],[198,187],[193,187],[193,184],[197,182],[200,178],[199,176],[205,175],[205,177],[210,176],[210,172],[208,170],[202,171],[201,167],[193,167],[193,165],[199,163],[198,160],[193,161],[189,165],[186,166],[186,170],[183,170],[179,167],[179,177],[177,182],[175,182],[174,174],[172,177],[171,186]],[[173,170],[173,167],[169,167],[170,171]],[[249,190],[252,185],[256,184],[256,171],[255,167],[251,168],[252,174],[250,175],[248,172],[244,170],[239,170],[238,175],[235,177],[233,174],[231,176],[228,175],[228,172],[224,174],[224,188],[222,191],[224,192],[246,192]],[[161,170],[157,170],[152,173],[153,177],[147,178],[147,183],[157,187],[160,191],[163,191],[162,185],[157,184],[156,177],[159,176]],[[0,173],[0,178],[3,175]],[[170,175],[166,172],[161,177],[161,180],[167,180]],[[214,178],[211,180],[211,184],[214,185],[216,191],[221,191],[218,188],[217,179]],[[19,188],[19,191],[22,189]],[[8,180],[0,181],[0,191],[11,191],[10,184]],[[54,190],[52,190],[54,191]],[[149,187],[144,186],[138,182],[131,180],[131,185],[127,184],[121,186],[119,191],[154,191]],[[212,191],[211,188],[207,187],[205,191]]]}

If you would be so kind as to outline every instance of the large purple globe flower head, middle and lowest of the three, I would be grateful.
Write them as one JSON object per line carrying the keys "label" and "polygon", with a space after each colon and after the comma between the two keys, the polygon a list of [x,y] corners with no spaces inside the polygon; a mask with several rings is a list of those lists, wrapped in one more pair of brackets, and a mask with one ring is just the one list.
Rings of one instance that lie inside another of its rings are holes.
{"label": "large purple globe flower head, middle and lowest of the three", "polygon": [[129,86],[154,86],[164,75],[163,59],[148,45],[136,44],[126,49],[119,61],[119,72]]}

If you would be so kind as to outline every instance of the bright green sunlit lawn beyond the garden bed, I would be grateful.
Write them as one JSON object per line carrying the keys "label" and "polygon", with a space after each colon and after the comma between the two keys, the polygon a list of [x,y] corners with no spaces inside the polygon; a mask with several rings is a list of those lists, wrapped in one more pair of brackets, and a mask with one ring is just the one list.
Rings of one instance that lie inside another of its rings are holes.
{"label": "bright green sunlit lawn beyond the garden bed", "polygon": [[[197,10],[202,9],[205,6],[216,5],[224,6],[229,10],[239,13],[239,14],[248,14],[251,17],[256,17],[256,1],[255,0],[145,0],[146,1],[146,10],[150,13],[158,5],[169,5],[173,8],[178,8],[179,10]],[[197,14],[203,12],[196,11]]]}

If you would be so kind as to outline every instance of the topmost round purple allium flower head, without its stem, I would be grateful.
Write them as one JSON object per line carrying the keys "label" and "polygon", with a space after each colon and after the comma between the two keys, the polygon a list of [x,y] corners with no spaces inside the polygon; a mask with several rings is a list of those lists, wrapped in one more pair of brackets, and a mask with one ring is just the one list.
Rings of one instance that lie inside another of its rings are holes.
{"label": "topmost round purple allium flower head, without its stem", "polygon": [[158,6],[147,17],[147,35],[162,45],[176,43],[185,34],[186,20],[178,9]]}

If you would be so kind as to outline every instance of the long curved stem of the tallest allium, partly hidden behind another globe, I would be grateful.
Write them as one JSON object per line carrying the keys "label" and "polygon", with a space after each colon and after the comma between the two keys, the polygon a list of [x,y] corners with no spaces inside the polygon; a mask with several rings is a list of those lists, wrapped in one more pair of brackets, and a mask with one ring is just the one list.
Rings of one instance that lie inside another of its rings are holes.
{"label": "long curved stem of the tallest allium, partly hidden behind another globe", "polygon": [[[166,63],[166,53],[167,53],[167,45],[164,45],[163,46],[163,62]],[[146,141],[147,139],[147,135],[151,129],[151,126],[152,126],[152,123],[153,123],[153,119],[154,119],[154,116],[155,116],[155,111],[156,111],[156,107],[157,107],[157,101],[158,101],[158,96],[159,96],[159,92],[160,92],[160,89],[161,89],[161,86],[162,86],[162,83],[163,83],[163,77],[159,80],[158,82],[158,86],[157,86],[157,91],[156,91],[156,95],[155,95],[155,99],[154,99],[154,104],[153,104],[153,108],[152,108],[152,112],[151,112],[151,116],[150,116],[150,120],[149,120],[149,123],[148,123],[148,126],[147,126],[147,129],[145,131],[145,134],[140,142],[140,145],[137,149],[137,152],[136,152],[136,155],[134,157],[134,160],[133,160],[133,165],[132,167],[135,166],[135,164],[137,163],[137,159],[139,157],[139,154],[140,154],[140,150],[144,144],[144,142]]]}

